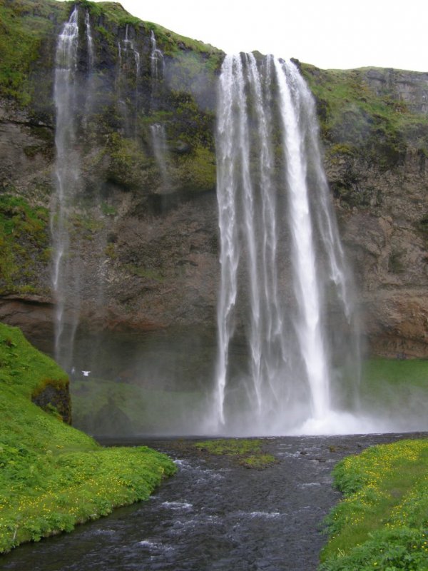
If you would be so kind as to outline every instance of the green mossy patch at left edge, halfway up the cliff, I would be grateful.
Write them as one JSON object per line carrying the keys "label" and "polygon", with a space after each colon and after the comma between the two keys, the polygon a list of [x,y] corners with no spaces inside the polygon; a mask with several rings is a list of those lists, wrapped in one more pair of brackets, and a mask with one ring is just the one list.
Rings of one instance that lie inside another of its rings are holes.
{"label": "green mossy patch at left edge, halfway up the cliff", "polygon": [[50,258],[49,212],[0,196],[0,293],[39,293]]}

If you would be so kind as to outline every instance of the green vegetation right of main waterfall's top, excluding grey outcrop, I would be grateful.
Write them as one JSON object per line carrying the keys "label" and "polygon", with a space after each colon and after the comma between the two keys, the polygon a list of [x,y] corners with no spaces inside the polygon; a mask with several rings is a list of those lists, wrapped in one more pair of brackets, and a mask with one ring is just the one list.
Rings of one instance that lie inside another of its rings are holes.
{"label": "green vegetation right of main waterfall's top, excluding grey outcrop", "polygon": [[319,70],[306,64],[301,68],[317,100],[331,158],[358,152],[387,169],[402,163],[408,146],[427,147],[426,130],[420,128],[426,117],[387,90],[371,89],[367,76],[373,69]]}

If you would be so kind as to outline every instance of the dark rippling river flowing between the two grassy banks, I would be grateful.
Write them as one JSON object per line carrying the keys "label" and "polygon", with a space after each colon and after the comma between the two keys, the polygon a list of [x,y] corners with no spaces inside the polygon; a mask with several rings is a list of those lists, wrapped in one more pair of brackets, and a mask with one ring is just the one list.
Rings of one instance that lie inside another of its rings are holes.
{"label": "dark rippling river flowing between the two grassy banks", "polygon": [[278,463],[265,470],[201,454],[193,440],[140,440],[168,453],[179,468],[150,500],[70,534],[22,545],[1,557],[0,568],[315,570],[325,542],[322,518],[340,499],[332,489],[333,466],[345,455],[399,438],[403,435],[267,438],[264,448]]}

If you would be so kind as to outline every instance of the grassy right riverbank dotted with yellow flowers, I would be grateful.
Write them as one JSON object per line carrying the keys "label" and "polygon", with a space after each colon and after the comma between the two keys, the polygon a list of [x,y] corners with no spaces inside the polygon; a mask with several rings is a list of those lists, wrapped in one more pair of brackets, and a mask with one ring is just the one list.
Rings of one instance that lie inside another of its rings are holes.
{"label": "grassy right riverbank dotted with yellow flowers", "polygon": [[428,440],[368,448],[337,464],[320,571],[428,570]]}

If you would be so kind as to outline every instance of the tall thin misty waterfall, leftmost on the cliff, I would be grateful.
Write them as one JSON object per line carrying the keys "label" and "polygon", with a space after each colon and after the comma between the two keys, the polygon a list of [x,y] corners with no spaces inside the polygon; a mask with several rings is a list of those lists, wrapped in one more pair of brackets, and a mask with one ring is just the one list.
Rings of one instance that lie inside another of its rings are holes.
{"label": "tall thin misty waterfall, leftmost on the cliff", "polygon": [[78,6],[74,7],[58,35],[55,57],[56,191],[51,202],[51,281],[56,301],[55,358],[66,370],[71,369],[81,306],[80,240],[71,229],[78,193],[81,191],[78,131],[86,128],[91,108],[93,39],[87,11],[84,22],[88,71],[86,78],[82,79],[78,74]]}

